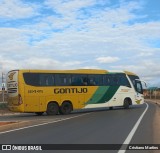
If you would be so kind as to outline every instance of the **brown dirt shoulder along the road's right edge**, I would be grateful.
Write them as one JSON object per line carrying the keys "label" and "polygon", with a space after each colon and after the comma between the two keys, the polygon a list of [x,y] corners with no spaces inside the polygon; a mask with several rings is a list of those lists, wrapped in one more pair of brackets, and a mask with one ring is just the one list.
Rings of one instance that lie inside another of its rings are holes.
{"label": "brown dirt shoulder along the road's right edge", "polygon": [[160,100],[145,99],[145,101],[152,102],[156,105],[155,118],[153,121],[153,129],[154,129],[153,143],[160,144]]}

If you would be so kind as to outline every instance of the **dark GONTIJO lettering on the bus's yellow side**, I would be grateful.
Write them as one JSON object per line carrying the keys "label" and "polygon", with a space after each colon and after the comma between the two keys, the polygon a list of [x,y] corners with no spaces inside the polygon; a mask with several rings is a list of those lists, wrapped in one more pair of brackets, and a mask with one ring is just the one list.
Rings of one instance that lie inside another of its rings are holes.
{"label": "dark GONTIJO lettering on the bus's yellow side", "polygon": [[87,88],[55,88],[54,94],[87,93]]}

